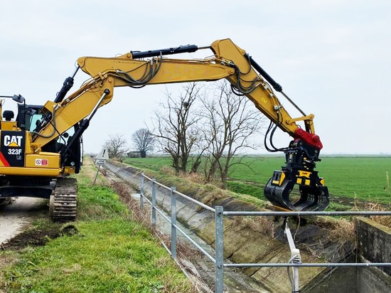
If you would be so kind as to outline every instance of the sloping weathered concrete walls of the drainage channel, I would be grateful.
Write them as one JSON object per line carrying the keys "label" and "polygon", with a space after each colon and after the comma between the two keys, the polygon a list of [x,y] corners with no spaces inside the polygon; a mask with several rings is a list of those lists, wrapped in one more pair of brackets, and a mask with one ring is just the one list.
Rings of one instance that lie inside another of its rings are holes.
{"label": "sloping weathered concrete walls of the drainage channel", "polygon": [[[139,188],[141,171],[117,162],[109,162],[106,168],[128,181],[134,188]],[[148,193],[150,191],[144,191]],[[167,193],[159,191],[157,203],[169,211],[171,201]],[[198,199],[199,200],[199,199]],[[255,206],[247,203],[240,206],[235,199],[223,198],[215,202],[216,206],[224,206],[227,211],[254,211]],[[244,209],[245,207],[245,209]],[[182,203],[177,211],[178,219],[193,230],[202,240],[211,247],[215,241],[214,216],[208,211],[200,209],[191,203]],[[279,225],[277,220],[277,227]],[[327,224],[322,225],[307,223],[294,230],[295,243],[301,251],[302,262],[355,262],[356,258],[361,262],[390,262],[390,234],[380,236],[378,230],[373,230],[368,220],[359,220],[357,237],[359,243],[359,256],[356,256],[354,243],[346,243],[341,246],[328,239]],[[379,238],[380,240],[377,240]],[[374,240],[376,239],[376,240]],[[317,247],[318,245],[318,247]],[[377,245],[377,250],[373,250]],[[385,250],[383,247],[388,247]],[[319,252],[321,251],[321,253]],[[374,253],[371,253],[374,252]],[[387,254],[378,260],[377,257]],[[384,254],[383,253],[383,254]],[[283,230],[276,230],[274,235],[264,235],[253,230],[248,223],[235,218],[224,219],[224,256],[232,262],[263,263],[263,262],[287,262],[290,257],[289,246],[284,238]],[[377,260],[377,261],[375,261]],[[262,291],[257,292],[291,292],[291,284],[286,267],[251,267],[242,270],[255,282],[260,284]],[[388,275],[387,275],[388,274]],[[390,292],[390,272],[375,267],[357,269],[355,267],[342,267],[328,270],[321,267],[303,267],[300,269],[301,292]],[[370,288],[370,290],[368,290]],[[373,291],[375,289],[375,291]],[[244,288],[237,292],[245,291]]]}

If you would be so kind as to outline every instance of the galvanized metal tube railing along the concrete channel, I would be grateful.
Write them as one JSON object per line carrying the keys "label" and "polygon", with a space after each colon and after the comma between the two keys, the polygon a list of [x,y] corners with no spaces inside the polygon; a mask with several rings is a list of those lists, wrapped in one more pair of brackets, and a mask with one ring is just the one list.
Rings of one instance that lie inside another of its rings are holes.
{"label": "galvanized metal tube railing along the concrete channel", "polygon": [[[146,186],[144,179],[151,181],[151,201],[144,195],[144,188]],[[156,206],[156,187],[159,186],[170,191],[171,196],[171,211],[169,217]],[[208,210],[215,215],[215,257],[210,255],[201,245],[196,243],[191,237],[189,237],[185,231],[183,231],[177,225],[176,218],[176,196],[186,199],[195,203],[195,205]],[[351,215],[391,215],[391,211],[224,211],[223,206],[210,206],[196,201],[186,194],[176,191],[176,187],[168,187],[151,179],[148,176],[141,174],[141,185],[140,185],[140,208],[144,207],[144,201],[151,205],[151,223],[156,225],[156,212],[159,213],[168,223],[171,224],[171,250],[166,247],[166,250],[171,254],[174,260],[177,261],[177,232],[181,233],[194,247],[203,253],[208,259],[215,265],[215,292],[223,293],[224,288],[224,268],[228,267],[291,267],[293,281],[291,281],[292,292],[299,292],[299,267],[390,267],[391,262],[354,262],[354,263],[302,263],[299,250],[294,247],[294,240],[291,238],[291,233],[286,225],[285,233],[288,238],[289,247],[291,249],[291,259],[289,262],[279,263],[225,263],[224,262],[224,238],[223,238],[223,218],[225,216],[304,216],[304,215],[327,215],[327,216],[351,216]]]}

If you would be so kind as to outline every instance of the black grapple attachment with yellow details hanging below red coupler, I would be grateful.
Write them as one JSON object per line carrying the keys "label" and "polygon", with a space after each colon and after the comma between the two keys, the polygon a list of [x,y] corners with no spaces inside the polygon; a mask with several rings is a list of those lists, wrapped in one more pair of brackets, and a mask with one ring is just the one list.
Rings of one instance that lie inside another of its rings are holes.
{"label": "black grapple attachment with yellow details hanging below red coupler", "polygon": [[[320,161],[318,150],[303,140],[294,140],[284,152],[286,165],[274,171],[264,187],[264,196],[283,210],[324,211],[330,198],[324,179],[314,171],[315,161]],[[294,191],[297,186],[299,192]]]}

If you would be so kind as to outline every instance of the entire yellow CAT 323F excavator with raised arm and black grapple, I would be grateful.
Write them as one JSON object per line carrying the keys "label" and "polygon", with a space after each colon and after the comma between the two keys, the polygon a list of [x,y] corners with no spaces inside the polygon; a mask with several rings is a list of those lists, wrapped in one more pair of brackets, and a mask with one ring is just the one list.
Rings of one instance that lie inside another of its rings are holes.
{"label": "entire yellow CAT 323F excavator with raised arm and black grapple", "polygon": [[[165,57],[202,49],[212,50],[213,55],[204,59]],[[68,95],[79,69],[90,78]],[[314,130],[314,115],[304,114],[284,94],[282,86],[228,38],[205,47],[187,45],[130,51],[115,58],[82,57],[53,101],[43,106],[26,105],[21,95],[10,96],[18,102],[18,114],[14,120],[14,112],[6,110],[0,119],[0,200],[17,196],[50,198],[49,210],[53,220],[74,220],[77,189],[75,179],[69,175],[79,173],[82,133],[97,110],[112,100],[114,87],[140,88],[223,78],[230,82],[236,95],[245,95],[270,119],[264,139],[266,148],[284,151],[285,166],[274,171],[264,187],[264,196],[284,210],[323,211],[328,206],[329,196],[323,179],[314,171],[322,149]],[[272,87],[302,116],[291,117]],[[277,149],[272,143],[277,127],[292,137],[286,148]],[[270,146],[267,145],[267,136]],[[295,186],[299,187],[299,196],[293,201],[290,193]]]}

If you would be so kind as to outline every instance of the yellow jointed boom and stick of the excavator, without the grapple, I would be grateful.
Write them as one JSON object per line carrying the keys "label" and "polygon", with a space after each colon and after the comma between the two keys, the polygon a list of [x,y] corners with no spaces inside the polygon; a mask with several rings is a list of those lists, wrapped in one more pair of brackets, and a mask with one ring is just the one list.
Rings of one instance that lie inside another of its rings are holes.
{"label": "yellow jointed boom and stick of the excavator, without the grapple", "polygon": [[307,134],[311,134],[311,139],[318,139],[314,135],[314,115],[292,118],[277,99],[269,83],[252,66],[252,59],[245,50],[230,39],[215,41],[206,48],[210,48],[214,56],[203,60],[170,59],[162,55],[149,60],[139,60],[134,58],[137,53],[132,52],[116,58],[79,58],[77,64],[91,79],[62,102],[49,101],[45,104],[43,111],[51,113],[52,123],[41,130],[34,142],[45,146],[97,108],[110,102],[114,87],[140,87],[223,78],[252,100],[255,107],[278,124],[284,132],[292,137],[300,137],[298,129],[301,133],[303,131],[296,122],[304,121]]}

